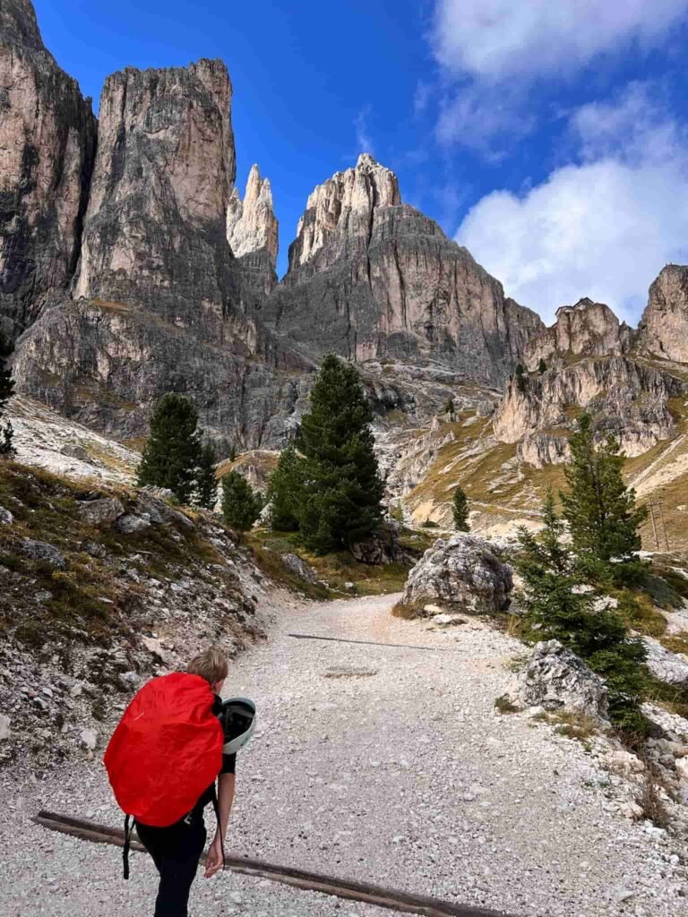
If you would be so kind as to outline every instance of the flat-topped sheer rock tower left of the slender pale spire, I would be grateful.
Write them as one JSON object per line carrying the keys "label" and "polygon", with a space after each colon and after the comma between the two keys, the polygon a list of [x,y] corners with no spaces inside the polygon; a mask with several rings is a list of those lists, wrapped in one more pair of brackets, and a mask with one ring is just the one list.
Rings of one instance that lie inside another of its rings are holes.
{"label": "flat-topped sheer rock tower left of the slender pale spire", "polygon": [[74,298],[138,305],[223,339],[240,302],[225,229],[231,95],[222,61],[106,79]]}

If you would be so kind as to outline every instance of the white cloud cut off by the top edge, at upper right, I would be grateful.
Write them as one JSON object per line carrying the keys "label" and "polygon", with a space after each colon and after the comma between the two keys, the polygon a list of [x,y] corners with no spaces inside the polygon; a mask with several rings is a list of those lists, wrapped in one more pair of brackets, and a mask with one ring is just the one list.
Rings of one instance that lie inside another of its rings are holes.
{"label": "white cloud cut off by the top edge, at upper right", "polygon": [[572,72],[632,41],[649,48],[686,0],[436,0],[433,47],[456,75],[483,81]]}

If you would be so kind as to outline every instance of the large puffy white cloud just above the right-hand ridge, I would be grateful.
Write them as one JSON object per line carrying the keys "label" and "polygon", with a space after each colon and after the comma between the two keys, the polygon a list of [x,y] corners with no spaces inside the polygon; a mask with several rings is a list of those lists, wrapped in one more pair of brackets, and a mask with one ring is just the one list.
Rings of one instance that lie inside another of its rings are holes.
{"label": "large puffy white cloud just above the right-hand ridge", "polygon": [[638,85],[616,104],[579,109],[571,132],[582,163],[522,195],[488,194],[455,238],[546,321],[590,296],[635,322],[664,264],[688,261],[684,132]]}

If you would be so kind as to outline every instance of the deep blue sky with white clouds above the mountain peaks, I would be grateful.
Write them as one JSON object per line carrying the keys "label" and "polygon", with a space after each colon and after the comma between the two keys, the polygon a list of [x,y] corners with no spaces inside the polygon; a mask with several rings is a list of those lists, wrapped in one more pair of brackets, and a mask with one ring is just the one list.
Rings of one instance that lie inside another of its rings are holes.
{"label": "deep blue sky with white clouds above the mountain peaks", "polygon": [[35,0],[97,100],[126,65],[227,62],[238,183],[258,162],[279,271],[305,199],[362,150],[405,202],[549,319],[583,295],[635,321],[688,263],[688,0]]}

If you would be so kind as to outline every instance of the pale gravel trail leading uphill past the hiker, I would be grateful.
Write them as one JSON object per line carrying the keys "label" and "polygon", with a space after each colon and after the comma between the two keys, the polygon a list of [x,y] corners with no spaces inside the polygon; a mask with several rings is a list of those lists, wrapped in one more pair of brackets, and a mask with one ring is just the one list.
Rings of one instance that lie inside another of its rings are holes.
{"label": "pale gravel trail leading uphill past the hiker", "polygon": [[[428,631],[390,615],[396,598],[292,602],[233,664],[226,693],[252,697],[260,727],[239,755],[232,852],[516,917],[688,914],[677,842],[614,811],[579,743],[495,714],[516,641],[475,619]],[[45,807],[119,824],[97,761],[1,781],[3,917],[151,911],[148,857],[125,883],[114,848],[29,822]],[[194,917],[390,913],[231,874],[199,879],[192,904]]]}

